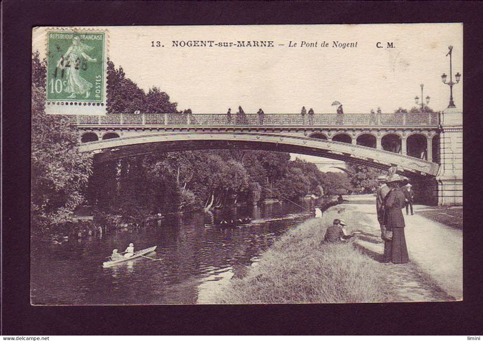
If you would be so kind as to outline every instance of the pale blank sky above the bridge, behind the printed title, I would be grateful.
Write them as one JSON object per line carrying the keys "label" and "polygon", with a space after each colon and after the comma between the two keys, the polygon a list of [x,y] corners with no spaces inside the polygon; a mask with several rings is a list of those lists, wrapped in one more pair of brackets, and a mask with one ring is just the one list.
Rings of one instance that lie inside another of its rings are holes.
{"label": "pale blank sky above the bridge, behind the printed title", "polygon": [[[178,109],[194,113],[392,112],[410,109],[414,97],[431,97],[429,106],[443,110],[449,102],[448,46],[453,75],[463,72],[462,24],[265,25],[265,26],[132,26],[109,31],[108,55],[116,67],[142,89],[157,86]],[[33,50],[45,53],[45,29],[34,29]],[[274,41],[274,47],[173,47],[172,41]],[[160,41],[164,47],[152,47]],[[289,42],[297,47],[288,47]],[[299,47],[301,41],[317,47]],[[330,47],[322,48],[326,41]],[[332,48],[333,41],[357,42],[356,48]],[[383,48],[377,48],[380,41]],[[387,49],[387,42],[394,48]],[[284,46],[279,46],[284,44]],[[453,88],[462,108],[462,81]],[[312,159],[312,158],[311,158]],[[320,159],[320,158],[318,158]]]}

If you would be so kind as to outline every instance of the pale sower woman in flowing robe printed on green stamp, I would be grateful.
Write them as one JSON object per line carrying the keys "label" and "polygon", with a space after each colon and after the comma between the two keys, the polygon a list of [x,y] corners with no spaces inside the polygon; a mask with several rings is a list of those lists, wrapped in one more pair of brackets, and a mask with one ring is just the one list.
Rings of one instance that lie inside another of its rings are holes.
{"label": "pale sower woman in flowing robe printed on green stamp", "polygon": [[[75,98],[76,95],[85,95],[85,98],[88,98],[90,95],[93,84],[81,77],[80,69],[82,68],[84,71],[87,69],[86,61],[97,61],[96,58],[91,58],[85,54],[85,52],[91,51],[92,49],[93,47],[81,42],[79,37],[74,37],[72,39],[72,45],[57,63],[61,69],[67,68],[67,86],[64,91],[71,94],[68,98]],[[82,58],[85,61],[81,61]]]}

